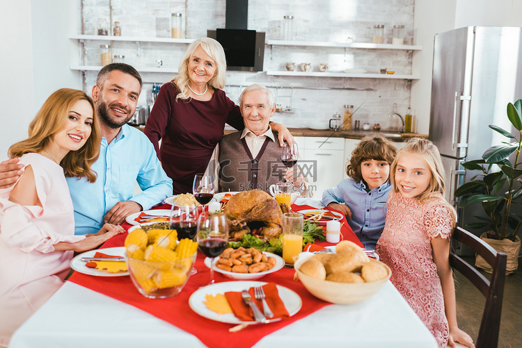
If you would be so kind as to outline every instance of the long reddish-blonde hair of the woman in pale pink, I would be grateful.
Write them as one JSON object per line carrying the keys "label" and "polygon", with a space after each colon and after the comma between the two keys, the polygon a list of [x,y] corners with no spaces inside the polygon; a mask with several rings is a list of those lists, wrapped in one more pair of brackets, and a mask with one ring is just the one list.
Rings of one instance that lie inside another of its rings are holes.
{"label": "long reddish-blonde hair of the woman in pale pink", "polygon": [[95,182],[96,173],[90,169],[90,166],[100,155],[100,125],[93,99],[81,90],[62,88],[51,94],[29,124],[29,138],[13,144],[9,148],[9,157],[15,158],[30,152],[42,151],[52,141],[53,136],[63,129],[72,106],[79,100],[88,101],[93,109],[90,136],[81,149],[69,151],[60,165],[65,176],[86,176],[88,181]]}

